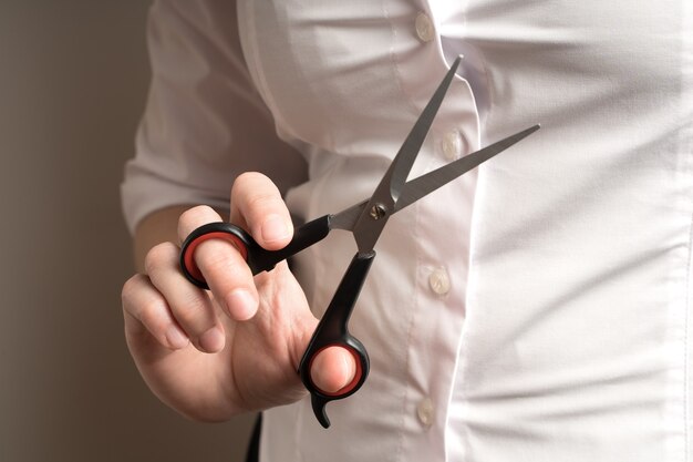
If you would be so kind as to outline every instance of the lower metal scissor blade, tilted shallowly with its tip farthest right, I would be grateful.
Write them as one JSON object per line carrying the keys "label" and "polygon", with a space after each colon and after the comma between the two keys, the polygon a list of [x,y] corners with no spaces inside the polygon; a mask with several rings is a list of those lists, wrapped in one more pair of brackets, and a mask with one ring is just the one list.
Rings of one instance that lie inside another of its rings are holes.
{"label": "lower metal scissor blade, tilted shallowly with its tip farthest right", "polygon": [[534,125],[527,130],[518,132],[489,146],[486,146],[483,150],[466,155],[455,162],[452,162],[437,170],[434,170],[433,172],[428,172],[425,175],[407,182],[404,186],[404,191],[400,195],[400,199],[395,204],[395,212],[399,212],[407,205],[415,203],[420,198],[433,193],[438,187],[457,178],[459,175],[470,171],[472,168],[477,167],[496,154],[499,154],[503,151],[507,150],[518,141],[529,136],[530,134],[539,130],[539,127],[540,126],[538,124]]}

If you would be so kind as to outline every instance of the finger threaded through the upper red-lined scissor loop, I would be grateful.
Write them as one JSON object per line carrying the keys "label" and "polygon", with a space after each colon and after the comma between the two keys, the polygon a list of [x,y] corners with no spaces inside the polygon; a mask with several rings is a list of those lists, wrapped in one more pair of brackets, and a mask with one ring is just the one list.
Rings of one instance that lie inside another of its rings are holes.
{"label": "finger threaded through the upper red-lined scissor loop", "polygon": [[[180,215],[178,237],[184,240],[199,226],[220,219],[210,207],[190,208]],[[231,243],[224,239],[205,240],[195,249],[194,258],[215,299],[231,319],[242,321],[255,316],[258,294],[252,273]]]}

